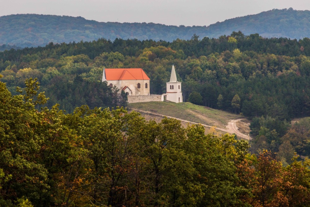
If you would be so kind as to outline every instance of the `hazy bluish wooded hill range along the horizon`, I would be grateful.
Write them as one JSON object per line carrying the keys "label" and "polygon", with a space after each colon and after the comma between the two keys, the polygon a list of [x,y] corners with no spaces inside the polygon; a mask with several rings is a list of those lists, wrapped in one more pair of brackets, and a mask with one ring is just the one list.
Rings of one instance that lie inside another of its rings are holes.
{"label": "hazy bluish wooded hill range along the horizon", "polygon": [[[49,42],[69,43],[92,41],[99,38],[153,39],[173,41],[190,39],[193,34],[200,38],[218,38],[232,31],[243,34],[258,33],[262,37],[286,37],[302,39],[310,33],[310,11],[273,9],[256,15],[237,17],[209,26],[167,26],[154,23],[97,22],[83,17],[17,14],[0,17],[0,45],[8,49],[45,46]],[[3,46],[3,44],[5,44]],[[1,48],[0,48],[1,49]]]}

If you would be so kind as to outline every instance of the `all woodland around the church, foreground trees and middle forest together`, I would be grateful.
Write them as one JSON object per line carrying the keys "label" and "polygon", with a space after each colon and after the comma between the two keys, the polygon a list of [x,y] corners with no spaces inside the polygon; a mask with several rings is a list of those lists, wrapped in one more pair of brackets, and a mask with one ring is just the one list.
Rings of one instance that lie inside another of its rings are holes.
{"label": "all woodland around the church, foreground trees and middle forest together", "polygon": [[[0,52],[0,205],[307,204],[309,56],[309,38],[240,31]],[[196,104],[251,120],[250,145],[128,114],[118,108],[126,95],[101,82],[104,67],[143,68],[151,93],[162,94],[172,64],[185,101],[200,97]]]}

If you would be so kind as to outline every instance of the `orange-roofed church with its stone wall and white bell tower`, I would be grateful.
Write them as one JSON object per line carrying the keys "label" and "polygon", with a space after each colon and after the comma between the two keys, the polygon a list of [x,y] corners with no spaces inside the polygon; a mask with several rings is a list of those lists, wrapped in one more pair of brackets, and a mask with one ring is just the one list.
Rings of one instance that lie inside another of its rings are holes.
{"label": "orange-roofed church with its stone wall and white bell tower", "polygon": [[178,82],[172,64],[170,81],[166,83],[166,93],[150,94],[150,78],[142,68],[104,68],[102,82],[116,86],[127,94],[128,102],[172,101],[183,102],[181,82]]}

